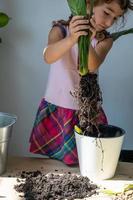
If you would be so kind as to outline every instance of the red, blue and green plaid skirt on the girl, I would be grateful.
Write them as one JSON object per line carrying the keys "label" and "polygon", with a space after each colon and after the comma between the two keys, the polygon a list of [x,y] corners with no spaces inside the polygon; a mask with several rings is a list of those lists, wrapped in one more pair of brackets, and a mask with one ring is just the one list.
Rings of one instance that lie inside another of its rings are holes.
{"label": "red, blue and green plaid skirt on the girl", "polygon": [[[107,124],[103,110],[98,121]],[[31,132],[29,151],[61,160],[67,165],[77,164],[74,136],[74,125],[77,123],[75,110],[62,108],[42,99]]]}

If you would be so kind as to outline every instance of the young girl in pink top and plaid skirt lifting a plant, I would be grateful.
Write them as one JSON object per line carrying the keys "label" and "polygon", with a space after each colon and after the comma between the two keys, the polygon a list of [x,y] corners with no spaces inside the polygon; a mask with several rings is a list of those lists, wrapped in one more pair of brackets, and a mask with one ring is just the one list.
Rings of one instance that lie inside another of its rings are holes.
{"label": "young girl in pink top and plaid skirt lifting a plant", "polygon": [[[45,62],[51,64],[48,86],[30,137],[30,152],[62,160],[68,165],[78,163],[74,137],[78,105],[71,95],[80,81],[77,42],[88,30],[92,32],[88,66],[91,73],[97,73],[113,44],[105,30],[128,9],[133,9],[130,0],[96,0],[90,21],[84,16],[73,16],[68,22],[54,22],[43,53]],[[89,14],[89,0],[87,10]],[[102,109],[98,123],[107,123]]]}

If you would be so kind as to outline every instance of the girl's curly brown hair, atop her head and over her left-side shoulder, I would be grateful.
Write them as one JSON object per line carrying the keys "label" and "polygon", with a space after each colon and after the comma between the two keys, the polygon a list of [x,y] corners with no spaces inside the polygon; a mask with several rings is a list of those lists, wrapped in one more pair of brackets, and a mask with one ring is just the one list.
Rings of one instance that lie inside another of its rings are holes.
{"label": "girl's curly brown hair, atop her head and over her left-side shoulder", "polygon": [[[86,0],[88,3],[90,2],[90,0]],[[128,11],[128,9],[133,10],[133,2],[132,0],[94,0],[94,6],[101,4],[101,3],[111,3],[112,1],[117,1],[118,4],[120,5],[121,9],[124,10],[124,13],[126,13]],[[53,21],[53,26],[56,24],[61,24],[64,26],[69,25],[71,19],[72,19],[72,15],[69,17],[68,20],[58,20],[58,21]]]}

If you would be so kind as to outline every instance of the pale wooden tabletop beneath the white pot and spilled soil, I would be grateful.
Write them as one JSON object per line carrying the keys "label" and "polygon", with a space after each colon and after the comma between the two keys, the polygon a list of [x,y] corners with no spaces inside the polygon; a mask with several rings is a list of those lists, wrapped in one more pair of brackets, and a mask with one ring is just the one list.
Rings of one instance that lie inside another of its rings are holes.
{"label": "pale wooden tabletop beneath the white pot and spilled soil", "polygon": [[[21,171],[41,170],[45,173],[79,173],[78,166],[68,167],[64,163],[48,158],[27,158],[27,157],[10,157],[7,163],[7,171],[0,176],[0,199],[3,200],[22,200],[19,194],[14,190],[17,183],[17,176]],[[8,177],[11,176],[11,177]],[[111,180],[96,181],[97,184],[108,189],[121,190],[125,184],[133,184],[133,163],[120,162],[118,164],[116,175]],[[88,199],[107,200],[110,197],[91,197]]]}

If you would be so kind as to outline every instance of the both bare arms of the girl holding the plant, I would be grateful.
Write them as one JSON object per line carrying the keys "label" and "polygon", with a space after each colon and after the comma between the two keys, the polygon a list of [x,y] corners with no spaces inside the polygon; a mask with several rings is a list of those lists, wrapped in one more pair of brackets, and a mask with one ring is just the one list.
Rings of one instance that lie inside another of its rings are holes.
{"label": "both bare arms of the girl holding the plant", "polygon": [[[70,35],[63,36],[60,27],[55,26],[51,29],[48,37],[48,46],[43,51],[45,62],[51,64],[60,59],[72,46],[78,42],[81,35],[87,35],[90,28],[89,21],[84,16],[74,16],[69,24]],[[112,46],[112,39],[105,39],[94,49],[90,46],[89,51],[89,70],[95,72],[104,61],[108,51]]]}

